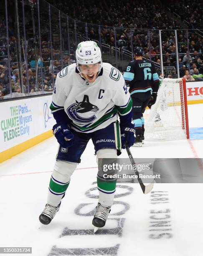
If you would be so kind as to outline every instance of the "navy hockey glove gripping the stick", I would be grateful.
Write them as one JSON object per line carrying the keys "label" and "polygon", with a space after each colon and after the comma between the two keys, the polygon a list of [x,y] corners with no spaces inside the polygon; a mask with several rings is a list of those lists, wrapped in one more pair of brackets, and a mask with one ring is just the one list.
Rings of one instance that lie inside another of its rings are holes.
{"label": "navy hockey glove gripping the stick", "polygon": [[122,148],[125,148],[125,144],[127,144],[128,147],[131,147],[134,144],[134,125],[132,123],[129,123],[129,125],[122,126],[121,128],[121,144]]}

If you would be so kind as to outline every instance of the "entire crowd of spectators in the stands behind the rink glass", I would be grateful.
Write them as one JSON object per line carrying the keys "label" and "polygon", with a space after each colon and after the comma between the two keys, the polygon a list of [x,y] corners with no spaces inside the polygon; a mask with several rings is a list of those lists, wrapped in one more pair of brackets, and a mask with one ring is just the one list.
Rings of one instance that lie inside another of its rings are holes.
{"label": "entire crowd of spectators in the stands behind the rink glass", "polygon": [[[135,46],[142,46],[145,51],[144,57],[151,59],[157,64],[160,64],[160,46],[158,29],[162,29],[162,54],[163,66],[175,67],[167,73],[167,77],[177,77],[177,62],[176,62],[176,45],[174,29],[178,29],[178,54],[180,77],[185,77],[187,81],[203,80],[203,37],[189,31],[189,49],[187,47],[187,37],[185,31],[181,28],[180,23],[171,18],[161,5],[159,0],[146,1],[141,3],[138,0],[112,0],[109,3],[107,0],[96,2],[94,0],[76,2],[67,2],[59,0],[48,0],[56,8],[62,10],[72,19],[80,20],[88,23],[88,31],[85,31],[84,26],[78,26],[77,31],[82,36],[88,35],[90,40],[97,40],[110,47],[115,45],[120,51],[133,51]],[[190,2],[189,8],[186,5]],[[199,2],[180,0],[179,3],[171,0],[171,8],[176,13],[181,13],[185,20],[193,24],[191,28],[202,28],[203,5]],[[182,3],[182,6],[181,6]],[[17,35],[13,26],[15,16],[11,15],[14,11],[12,1],[8,1],[9,12],[9,50],[10,50],[10,75],[11,75],[11,90],[13,93],[33,93],[33,92],[51,92],[56,79],[56,74],[60,69],[68,64],[74,63],[74,50],[76,42],[72,41],[70,52],[63,51],[63,58],[60,56],[60,40],[59,33],[53,34],[53,62],[51,63],[51,47],[48,37],[48,26],[41,26],[41,31],[47,34],[42,38],[41,53],[42,60],[39,57],[39,47],[36,47],[36,41],[33,39],[32,22],[30,15],[26,15],[27,30],[27,59],[28,67],[26,71],[25,59],[22,52],[22,81],[23,86],[20,86],[19,66],[17,59]],[[26,8],[30,8],[28,5]],[[36,8],[36,6],[34,6]],[[37,12],[36,12],[37,13]],[[195,15],[194,15],[195,13]],[[193,20],[193,22],[191,21]],[[37,19],[36,19],[37,27]],[[80,24],[77,22],[77,24]],[[96,24],[96,25],[94,25]],[[80,24],[81,25],[81,24]],[[98,28],[101,27],[99,34]],[[114,27],[116,27],[116,42],[114,37]],[[20,34],[23,35],[23,23],[20,20]],[[73,26],[72,26],[73,28]],[[70,28],[71,29],[71,28]],[[144,31],[145,29],[145,31]],[[150,29],[150,40],[148,37],[148,29]],[[58,24],[56,31],[58,30]],[[28,33],[29,31],[29,33]],[[23,36],[22,36],[23,37]],[[131,38],[132,37],[132,38]],[[22,41],[23,42],[23,41]],[[116,44],[115,44],[116,43]],[[190,54],[187,54],[189,50]],[[63,59],[63,60],[62,60]],[[10,93],[9,74],[8,74],[8,52],[7,52],[7,37],[5,16],[0,13],[0,96]],[[40,73],[41,72],[41,73]],[[41,76],[41,74],[43,74]],[[165,75],[166,76],[166,75]]]}

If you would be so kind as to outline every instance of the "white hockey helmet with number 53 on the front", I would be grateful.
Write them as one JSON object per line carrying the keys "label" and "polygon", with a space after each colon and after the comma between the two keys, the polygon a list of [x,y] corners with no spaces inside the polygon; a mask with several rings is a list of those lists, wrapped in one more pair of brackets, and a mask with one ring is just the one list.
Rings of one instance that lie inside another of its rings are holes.
{"label": "white hockey helmet with number 53 on the front", "polygon": [[90,65],[99,63],[99,72],[102,67],[101,51],[94,41],[84,41],[78,44],[76,49],[76,66],[79,72],[79,65]]}

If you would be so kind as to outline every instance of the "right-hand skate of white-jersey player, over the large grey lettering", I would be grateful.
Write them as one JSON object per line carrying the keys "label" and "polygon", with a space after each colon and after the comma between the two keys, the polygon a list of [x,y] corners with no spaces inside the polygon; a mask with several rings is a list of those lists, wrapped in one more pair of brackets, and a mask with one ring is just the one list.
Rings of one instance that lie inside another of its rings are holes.
{"label": "right-hand skate of white-jersey player, over the large grey lettering", "polygon": [[109,212],[111,211],[111,206],[104,207],[100,203],[96,206],[96,211],[92,224],[97,228],[102,228],[106,224]]}

